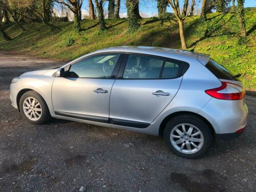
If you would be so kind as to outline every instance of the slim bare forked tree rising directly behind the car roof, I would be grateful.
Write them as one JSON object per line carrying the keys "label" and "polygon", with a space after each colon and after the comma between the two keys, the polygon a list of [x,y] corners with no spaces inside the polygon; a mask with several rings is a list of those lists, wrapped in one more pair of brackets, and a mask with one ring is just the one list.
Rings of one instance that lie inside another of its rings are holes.
{"label": "slim bare forked tree rising directly behind the car roof", "polygon": [[180,6],[179,6],[179,0],[168,0],[170,7],[173,8],[174,15],[178,19],[178,24],[179,24],[179,31],[180,31],[180,41],[181,41],[181,47],[182,49],[187,49],[187,44],[185,40],[185,35],[184,35],[184,20],[185,18],[190,14],[191,9],[194,6],[195,0],[191,1],[191,8],[189,11],[187,11],[186,15],[182,16],[180,13]]}

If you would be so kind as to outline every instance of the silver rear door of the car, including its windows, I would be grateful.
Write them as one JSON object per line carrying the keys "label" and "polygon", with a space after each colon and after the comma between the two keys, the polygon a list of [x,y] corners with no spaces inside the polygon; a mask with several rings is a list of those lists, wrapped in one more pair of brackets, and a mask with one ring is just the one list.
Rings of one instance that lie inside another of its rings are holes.
{"label": "silver rear door of the car, including its windows", "polygon": [[126,54],[110,97],[110,123],[145,128],[179,90],[184,63]]}

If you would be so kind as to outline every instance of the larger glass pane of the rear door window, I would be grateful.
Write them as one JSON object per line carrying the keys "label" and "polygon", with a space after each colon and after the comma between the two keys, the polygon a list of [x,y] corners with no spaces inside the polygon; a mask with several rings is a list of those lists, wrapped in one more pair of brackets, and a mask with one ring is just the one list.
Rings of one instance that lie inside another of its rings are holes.
{"label": "larger glass pane of the rear door window", "polygon": [[164,59],[129,55],[123,72],[124,79],[158,79]]}

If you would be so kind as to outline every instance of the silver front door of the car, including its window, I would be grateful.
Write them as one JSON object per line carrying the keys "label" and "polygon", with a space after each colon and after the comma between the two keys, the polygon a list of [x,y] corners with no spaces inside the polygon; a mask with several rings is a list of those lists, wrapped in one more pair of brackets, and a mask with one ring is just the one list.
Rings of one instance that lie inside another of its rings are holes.
{"label": "silver front door of the car, including its window", "polygon": [[108,53],[82,59],[56,77],[52,103],[56,115],[109,121],[109,101],[120,54]]}

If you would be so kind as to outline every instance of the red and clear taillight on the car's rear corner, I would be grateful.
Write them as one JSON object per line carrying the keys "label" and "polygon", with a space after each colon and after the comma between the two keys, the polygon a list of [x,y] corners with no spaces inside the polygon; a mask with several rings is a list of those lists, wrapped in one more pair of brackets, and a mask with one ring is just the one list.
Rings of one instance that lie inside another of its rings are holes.
{"label": "red and clear taillight on the car's rear corner", "polygon": [[219,88],[206,90],[208,95],[224,100],[239,100],[245,96],[245,91],[242,87],[231,82],[221,82],[222,85]]}

